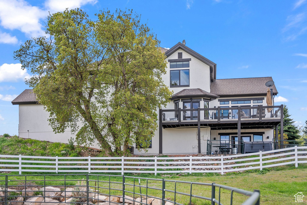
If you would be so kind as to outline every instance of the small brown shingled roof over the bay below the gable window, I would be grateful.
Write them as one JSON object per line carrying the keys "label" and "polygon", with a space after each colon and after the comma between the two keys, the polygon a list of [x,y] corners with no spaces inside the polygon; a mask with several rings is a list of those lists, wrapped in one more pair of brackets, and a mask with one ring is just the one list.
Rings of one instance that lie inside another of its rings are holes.
{"label": "small brown shingled roof over the bay below the gable window", "polygon": [[200,88],[190,88],[190,89],[183,89],[182,91],[179,91],[176,94],[172,95],[171,100],[180,99],[180,98],[190,98],[190,97],[216,99],[219,96],[206,92]]}

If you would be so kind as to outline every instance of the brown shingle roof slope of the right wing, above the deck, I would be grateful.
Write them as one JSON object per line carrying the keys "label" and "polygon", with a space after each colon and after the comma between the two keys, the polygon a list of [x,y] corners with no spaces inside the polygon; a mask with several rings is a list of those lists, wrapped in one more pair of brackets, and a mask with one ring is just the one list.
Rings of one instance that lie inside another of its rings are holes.
{"label": "brown shingle roof slope of the right wing, above the deck", "polygon": [[[210,92],[215,95],[266,95],[267,88],[265,83],[273,80],[272,77],[260,78],[233,78],[216,79],[210,85]],[[272,86],[273,93],[278,93],[275,85]]]}

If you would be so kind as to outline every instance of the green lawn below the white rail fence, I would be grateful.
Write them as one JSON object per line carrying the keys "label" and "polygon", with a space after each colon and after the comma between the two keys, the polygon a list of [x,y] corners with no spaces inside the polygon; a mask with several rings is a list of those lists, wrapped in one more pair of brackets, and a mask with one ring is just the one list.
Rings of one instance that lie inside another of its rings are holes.
{"label": "green lawn below the white rail fence", "polygon": [[[298,168],[294,168],[293,166],[282,166],[274,169],[264,169],[262,171],[251,170],[246,171],[243,173],[234,172],[234,173],[227,173],[225,175],[220,175],[216,173],[207,173],[205,175],[201,173],[192,174],[192,175],[182,175],[177,176],[173,175],[170,177],[166,177],[168,180],[179,180],[179,181],[192,181],[192,182],[203,182],[203,183],[212,183],[215,182],[216,184],[227,185],[230,187],[236,187],[247,191],[253,191],[254,189],[260,190],[261,195],[261,203],[262,204],[296,204],[294,202],[294,196],[299,191],[306,190],[307,187],[307,166],[299,166]],[[25,176],[18,176],[13,174],[17,173],[9,173],[8,177],[10,180],[9,185],[17,185],[21,184],[21,182],[13,181],[13,180],[25,180]],[[5,174],[1,174],[5,175]],[[99,176],[99,187],[109,187],[108,181],[111,182],[122,182],[122,176],[112,176],[107,177],[103,175]],[[161,174],[157,176],[153,176],[151,174],[126,174],[126,176],[132,176],[132,178],[126,178],[127,184],[138,184],[138,179],[133,181],[133,177],[145,177],[145,178],[154,178],[161,180],[163,177]],[[43,176],[29,176],[27,175],[27,183],[30,183],[31,180],[43,180]],[[56,181],[62,180],[64,176],[46,176],[46,185],[58,185],[63,186],[63,181]],[[66,180],[82,180],[86,179],[86,175],[66,175]],[[97,180],[97,175],[89,176],[90,186],[98,186],[95,184],[94,180]],[[3,180],[0,178],[0,180]],[[106,181],[106,182],[103,182]],[[37,185],[43,185],[44,181],[33,181]],[[0,182],[3,184],[3,182]],[[66,181],[66,186],[75,185],[76,181]],[[146,180],[141,180],[141,185],[146,186]],[[166,182],[166,189],[174,190],[175,184],[173,182]],[[161,181],[157,180],[148,180],[148,187],[154,188],[162,188]],[[111,183],[111,188],[116,188],[121,190],[122,184],[121,183]],[[133,191],[133,186],[126,185],[126,191]],[[94,188],[93,188],[94,189]],[[64,190],[64,186],[61,188]],[[190,193],[190,184],[176,184],[176,190],[180,192]],[[139,188],[135,187],[135,193],[139,193]],[[157,197],[161,197],[161,191],[155,189],[148,189],[148,195],[153,195]],[[99,189],[100,193],[109,194],[108,189]],[[146,193],[146,188],[142,188],[142,193]],[[111,190],[111,195],[122,195],[122,191],[118,190]],[[193,195],[200,195],[205,197],[211,197],[211,186],[200,186],[200,185],[193,185],[192,189]],[[130,195],[133,197],[133,194],[126,193],[126,195]],[[139,195],[135,195],[135,198],[138,198]],[[174,194],[170,192],[166,192],[165,197],[168,199],[173,200]],[[219,189],[216,189],[216,198],[219,197]],[[221,203],[223,204],[230,204],[230,191],[221,189]],[[241,204],[243,203],[247,197],[239,194],[234,194],[233,196],[233,204]],[[189,197],[185,195],[176,195],[176,201],[182,204],[189,204]],[[304,199],[306,203],[306,199]],[[204,201],[197,198],[192,198],[192,204],[210,204],[208,201]]]}

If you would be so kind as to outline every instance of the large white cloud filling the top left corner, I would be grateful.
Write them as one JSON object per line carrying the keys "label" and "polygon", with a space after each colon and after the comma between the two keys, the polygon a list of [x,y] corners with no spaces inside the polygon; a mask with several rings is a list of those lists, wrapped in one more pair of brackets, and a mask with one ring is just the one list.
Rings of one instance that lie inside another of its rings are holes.
{"label": "large white cloud filling the top left corner", "polygon": [[47,14],[24,0],[0,0],[0,24],[6,29],[18,29],[27,36],[44,35],[40,19]]}

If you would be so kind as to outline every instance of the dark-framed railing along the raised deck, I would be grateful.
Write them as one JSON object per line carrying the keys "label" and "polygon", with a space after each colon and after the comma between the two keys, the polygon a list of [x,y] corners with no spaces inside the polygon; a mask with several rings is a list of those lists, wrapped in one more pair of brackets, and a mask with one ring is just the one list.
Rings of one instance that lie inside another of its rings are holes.
{"label": "dark-framed railing along the raised deck", "polygon": [[192,122],[198,121],[237,121],[262,119],[280,119],[281,106],[238,106],[200,109],[165,109],[162,112],[162,122]]}

